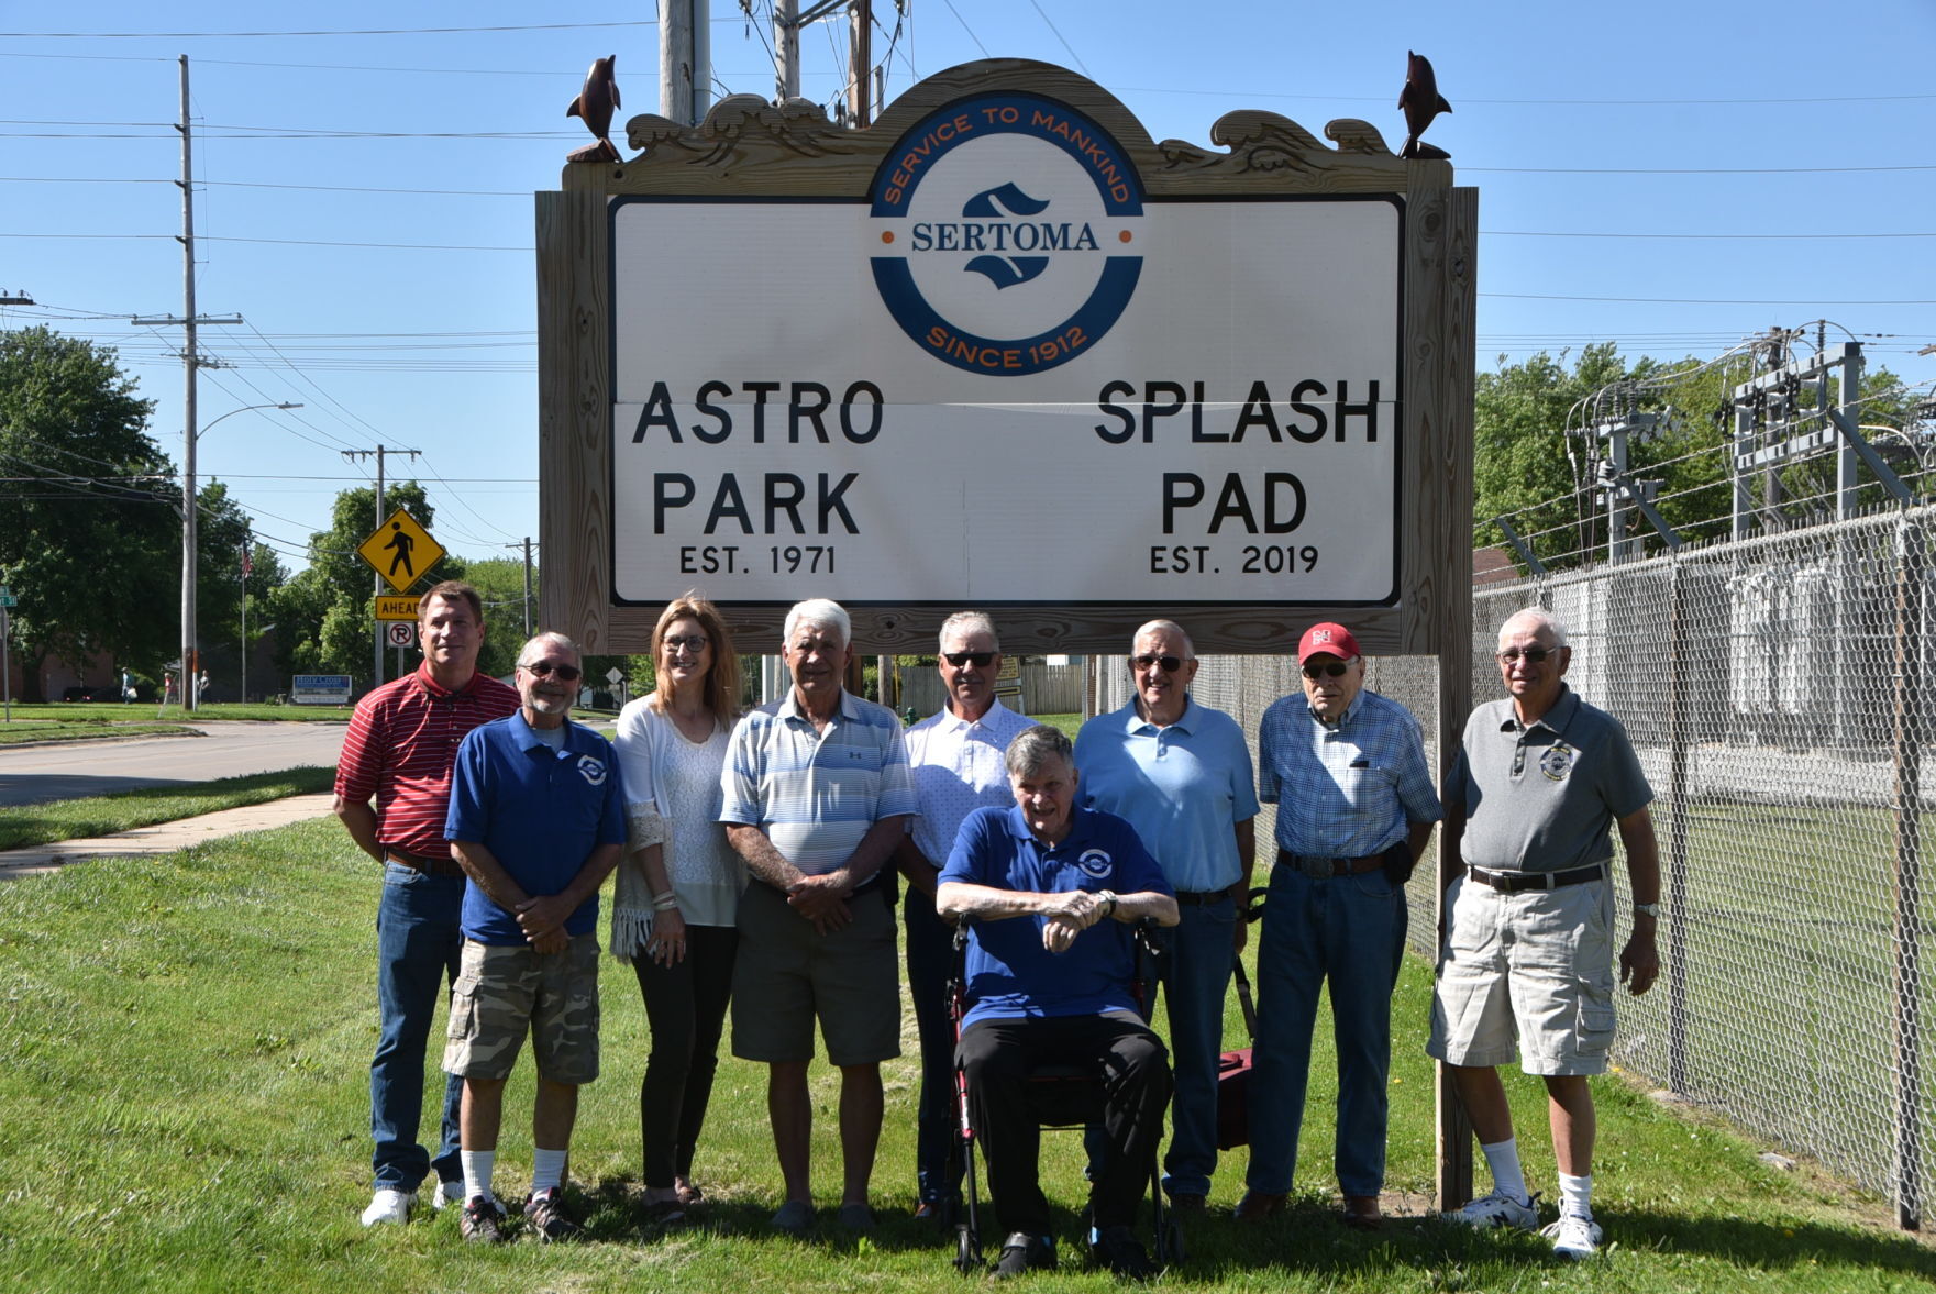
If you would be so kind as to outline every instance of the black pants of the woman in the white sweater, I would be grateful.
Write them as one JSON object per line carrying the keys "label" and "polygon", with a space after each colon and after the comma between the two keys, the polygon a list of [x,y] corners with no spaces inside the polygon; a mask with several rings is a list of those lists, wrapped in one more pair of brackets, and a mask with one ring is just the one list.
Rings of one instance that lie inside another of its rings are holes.
{"label": "black pants of the woman in the white sweater", "polygon": [[649,1187],[664,1189],[674,1176],[693,1174],[693,1145],[712,1098],[738,951],[740,932],[734,926],[687,926],[685,961],[662,967],[639,953],[631,963],[652,1027],[652,1052],[639,1083],[639,1137]]}

